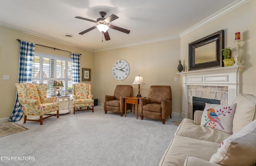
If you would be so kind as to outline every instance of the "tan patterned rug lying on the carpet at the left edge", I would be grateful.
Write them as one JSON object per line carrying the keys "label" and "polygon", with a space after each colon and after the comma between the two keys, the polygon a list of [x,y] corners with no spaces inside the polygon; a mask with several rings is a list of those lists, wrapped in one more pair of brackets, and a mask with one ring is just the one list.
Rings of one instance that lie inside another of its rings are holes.
{"label": "tan patterned rug lying on the carpet at the left edge", "polygon": [[24,126],[21,126],[20,124],[17,124],[15,122],[5,122],[0,124],[0,137],[8,136],[11,134],[15,134],[18,132],[23,132],[29,130],[28,128],[25,128]]}

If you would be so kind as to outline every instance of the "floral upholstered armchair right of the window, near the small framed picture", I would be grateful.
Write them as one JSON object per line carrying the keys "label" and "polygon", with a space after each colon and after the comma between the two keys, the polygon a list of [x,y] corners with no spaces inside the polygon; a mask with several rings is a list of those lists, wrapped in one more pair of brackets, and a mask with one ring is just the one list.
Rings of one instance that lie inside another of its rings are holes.
{"label": "floral upholstered armchair right of the window, near the small framed picture", "polygon": [[[92,99],[91,94],[91,85],[86,83],[76,83],[73,84],[73,107],[74,114],[76,111],[82,110],[92,110],[94,106],[94,100]],[[92,106],[90,108],[89,106]],[[85,109],[79,109],[86,107]]]}

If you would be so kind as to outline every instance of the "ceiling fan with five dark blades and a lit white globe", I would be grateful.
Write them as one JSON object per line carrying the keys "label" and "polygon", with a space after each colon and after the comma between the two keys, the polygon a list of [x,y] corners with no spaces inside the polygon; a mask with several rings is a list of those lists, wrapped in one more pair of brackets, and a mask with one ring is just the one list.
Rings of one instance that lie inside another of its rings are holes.
{"label": "ceiling fan with five dark blades and a lit white globe", "polygon": [[[111,16],[109,16],[108,18],[104,18],[106,16],[106,12],[100,12],[100,16],[101,18],[98,18],[96,21],[94,20],[90,20],[88,18],[83,18],[83,17],[80,17],[80,16],[76,16],[75,18],[78,18],[78,19],[82,19],[82,20],[86,20],[86,21],[90,21],[90,22],[95,22],[97,25],[96,26],[93,26],[87,30],[84,30],[83,32],[80,32],[79,34],[85,34],[86,32],[89,32],[95,28],[98,28],[98,30],[100,32],[102,32],[102,35],[104,34],[104,37],[105,37],[105,40],[110,40],[110,36],[108,34],[108,28],[112,28],[114,30],[118,30],[120,32],[124,32],[126,34],[129,34],[130,33],[130,30],[127,30],[127,29],[124,29],[124,28],[120,28],[118,26],[114,26],[114,25],[110,25],[109,23],[118,19],[119,17],[112,14]],[[102,41],[103,41],[103,36],[102,36]]]}

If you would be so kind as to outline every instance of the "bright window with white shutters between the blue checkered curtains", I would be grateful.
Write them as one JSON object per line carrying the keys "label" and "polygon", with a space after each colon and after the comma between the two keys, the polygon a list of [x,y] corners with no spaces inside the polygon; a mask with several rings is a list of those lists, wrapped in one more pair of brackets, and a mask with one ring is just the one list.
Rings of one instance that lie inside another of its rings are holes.
{"label": "bright window with white shutters between the blue checkered curtains", "polygon": [[35,52],[31,83],[47,84],[48,97],[56,95],[54,80],[62,80],[64,87],[60,93],[72,95],[72,63],[71,58]]}

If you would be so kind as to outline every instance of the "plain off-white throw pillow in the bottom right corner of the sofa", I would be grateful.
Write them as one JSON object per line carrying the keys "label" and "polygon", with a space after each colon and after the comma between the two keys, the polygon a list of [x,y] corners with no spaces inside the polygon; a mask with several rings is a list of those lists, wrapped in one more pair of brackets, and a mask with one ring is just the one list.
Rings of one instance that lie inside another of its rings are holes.
{"label": "plain off-white throw pillow in the bottom right corner of the sofa", "polygon": [[222,166],[252,166],[256,163],[256,120],[226,138],[210,162]]}

